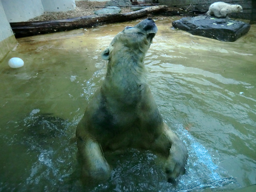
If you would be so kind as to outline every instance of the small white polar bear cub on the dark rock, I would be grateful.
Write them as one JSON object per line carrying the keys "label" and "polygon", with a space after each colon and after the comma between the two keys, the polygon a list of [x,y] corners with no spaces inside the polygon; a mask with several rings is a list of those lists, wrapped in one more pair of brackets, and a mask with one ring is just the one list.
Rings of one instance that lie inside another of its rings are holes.
{"label": "small white polar bear cub on the dark rock", "polygon": [[231,5],[224,2],[216,2],[210,5],[209,11],[206,13],[208,16],[214,14],[218,18],[227,18],[229,13],[242,13],[243,8],[241,5]]}

